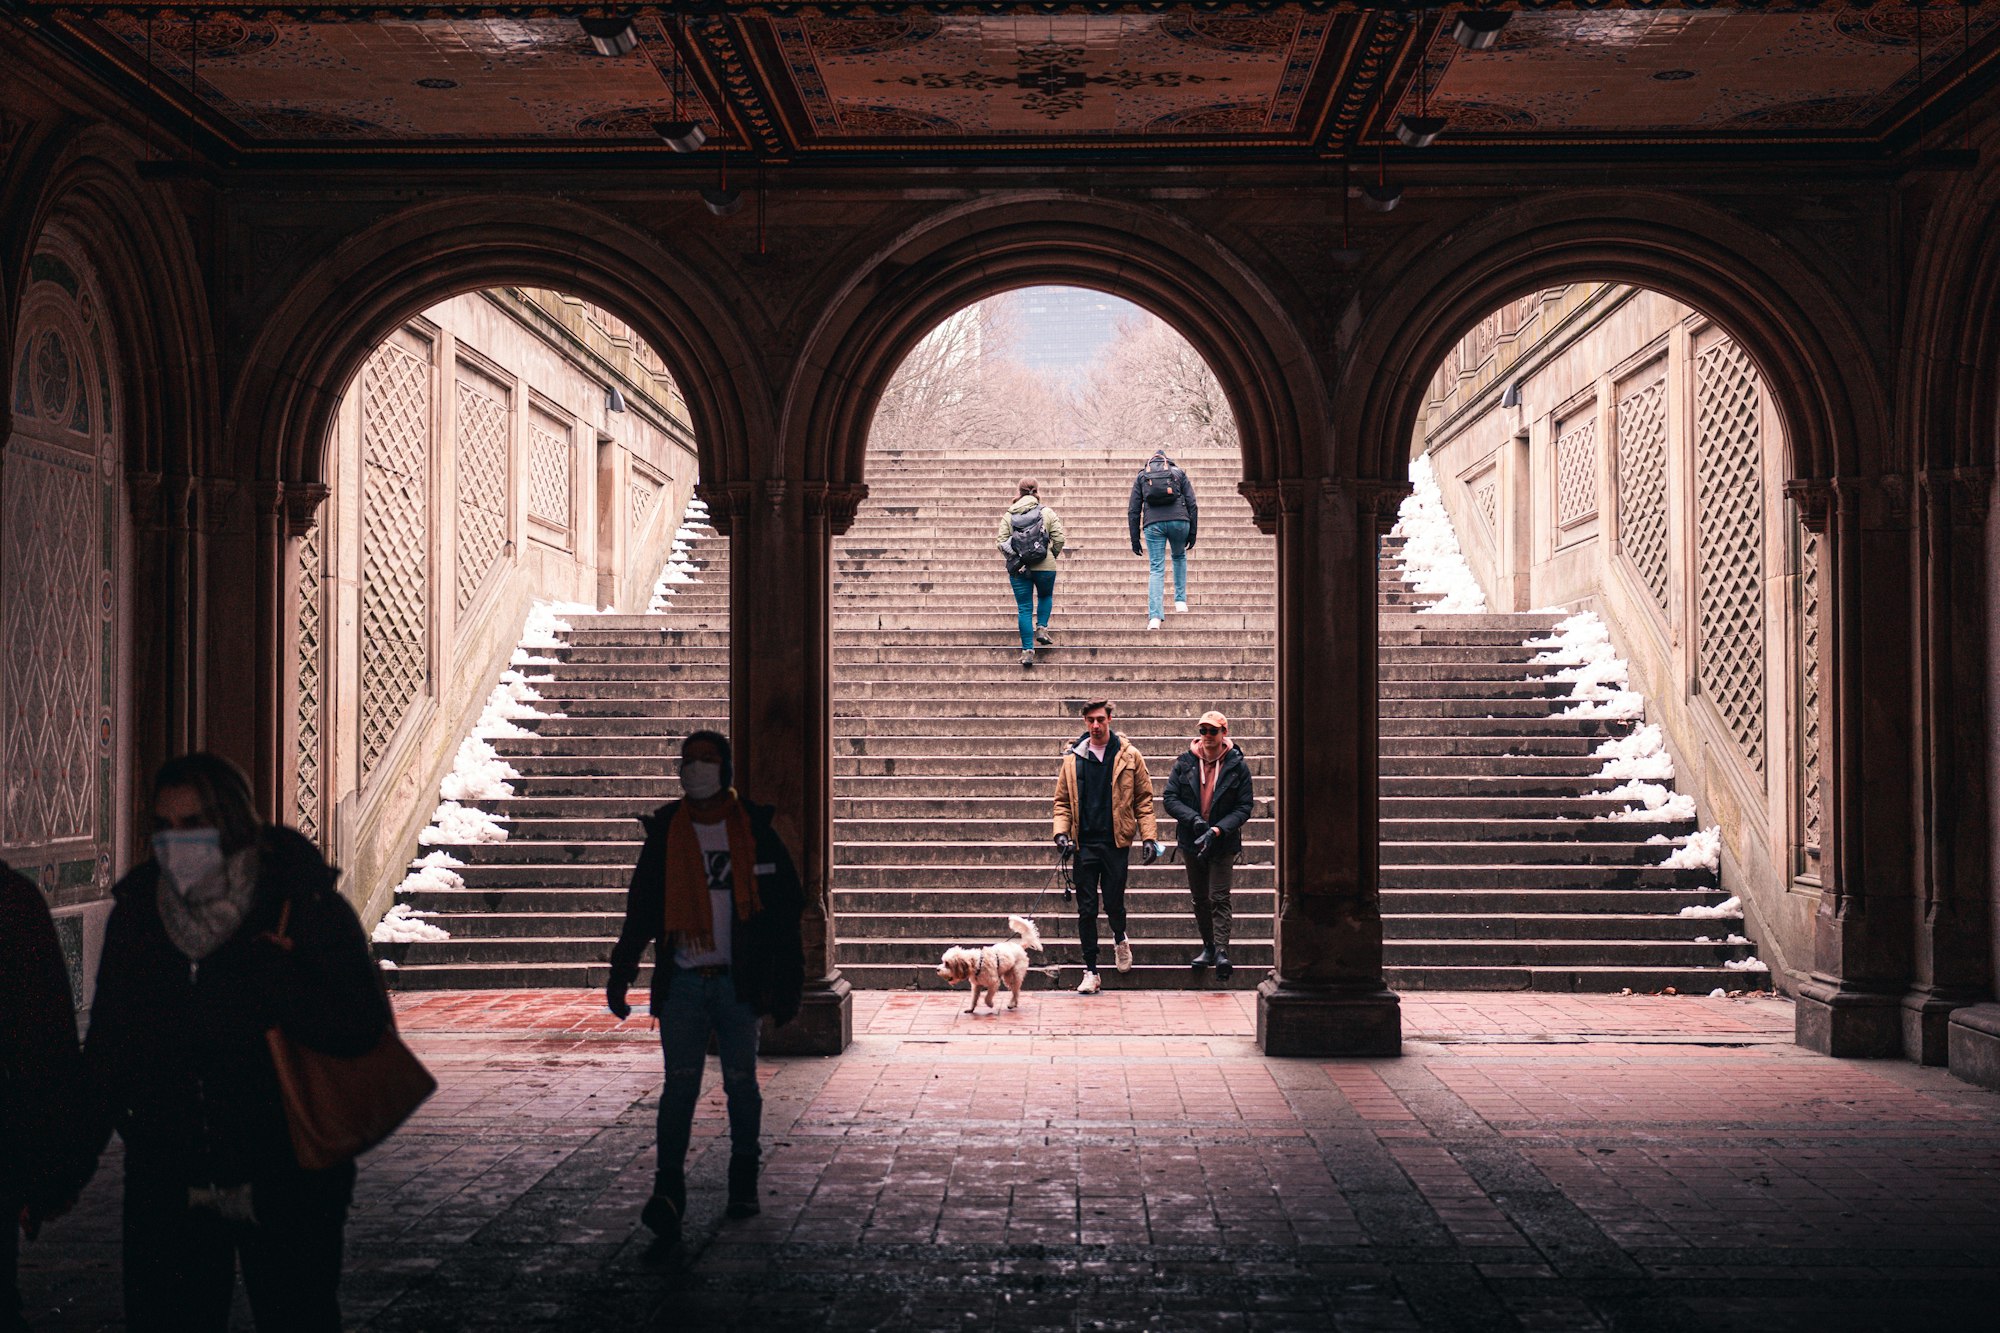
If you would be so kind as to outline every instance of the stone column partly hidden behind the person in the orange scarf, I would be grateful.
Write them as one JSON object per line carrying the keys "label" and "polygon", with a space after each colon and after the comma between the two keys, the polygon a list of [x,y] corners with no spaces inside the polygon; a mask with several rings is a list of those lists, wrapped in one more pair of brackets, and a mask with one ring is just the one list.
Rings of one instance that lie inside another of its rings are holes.
{"label": "stone column partly hidden behind the person in the orange scarf", "polygon": [[854,1001],[834,963],[832,538],[866,486],[786,480],[696,486],[730,538],[730,743],[736,783],[778,807],[806,887],[806,995],[764,1029],[776,1055],[838,1055]]}

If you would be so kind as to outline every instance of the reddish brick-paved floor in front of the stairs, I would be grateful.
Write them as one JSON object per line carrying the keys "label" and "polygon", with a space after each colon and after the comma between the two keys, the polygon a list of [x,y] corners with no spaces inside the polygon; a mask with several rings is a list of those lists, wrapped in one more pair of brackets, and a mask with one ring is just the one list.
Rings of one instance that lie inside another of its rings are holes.
{"label": "reddish brick-paved floor in front of the stairs", "polygon": [[[1790,1045],[1770,997],[1408,995],[1408,1055],[1268,1061],[1252,997],[856,995],[768,1061],[764,1213],[650,1253],[658,1047],[596,997],[400,997],[442,1089],[362,1167],[366,1329],[1994,1327],[2000,1097]],[[116,1161],[26,1253],[116,1323]],[[1952,1323],[1940,1323],[1952,1321]]]}

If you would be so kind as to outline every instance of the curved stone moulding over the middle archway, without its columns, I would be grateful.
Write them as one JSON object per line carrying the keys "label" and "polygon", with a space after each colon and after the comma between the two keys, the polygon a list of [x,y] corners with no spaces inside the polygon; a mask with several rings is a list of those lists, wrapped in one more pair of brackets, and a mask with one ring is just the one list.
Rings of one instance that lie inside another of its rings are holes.
{"label": "curved stone moulding over the middle archway, without its columns", "polygon": [[874,406],[910,348],[974,300],[1036,284],[1120,296],[1194,344],[1230,396],[1246,482],[1314,468],[1326,420],[1320,370],[1236,254],[1156,208],[1022,194],[928,218],[832,298],[786,392],[788,472],[860,482]]}

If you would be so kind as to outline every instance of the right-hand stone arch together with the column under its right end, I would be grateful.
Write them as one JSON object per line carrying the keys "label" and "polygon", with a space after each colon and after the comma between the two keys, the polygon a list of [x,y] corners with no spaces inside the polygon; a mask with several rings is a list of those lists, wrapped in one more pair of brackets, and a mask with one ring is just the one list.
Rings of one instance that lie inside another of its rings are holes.
{"label": "right-hand stone arch together with the column under its right end", "polygon": [[[1864,783],[1862,775],[1896,773],[1906,755],[1866,725],[1864,701],[1894,689],[1894,669],[1856,640],[1862,618],[1870,632],[1896,634],[1908,612],[1890,574],[1906,560],[1892,536],[1902,502],[1894,486],[1858,480],[1888,440],[1876,372],[1882,350],[1804,256],[1740,234],[1726,244],[1730,228],[1700,210],[1686,216],[1686,200],[1672,204],[1682,214],[1676,226],[1642,216],[1640,204],[1632,196],[1538,200],[1434,238],[1400,272],[1394,314],[1378,306],[1358,336],[1340,380],[1348,392],[1336,394],[1338,420],[1358,440],[1362,466],[1394,474],[1430,370],[1464,330],[1508,300],[1566,282],[1666,292],[1740,338],[1786,422],[1786,490],[1816,546],[1822,584],[1822,893],[1814,977],[1798,991],[1798,1039],[1830,1053],[1892,1053],[1902,1045],[1904,979],[1890,957],[1908,943],[1910,879],[1890,845],[1866,837],[1896,801],[1894,779]],[[1368,288],[1358,308],[1386,294],[1386,282]]]}

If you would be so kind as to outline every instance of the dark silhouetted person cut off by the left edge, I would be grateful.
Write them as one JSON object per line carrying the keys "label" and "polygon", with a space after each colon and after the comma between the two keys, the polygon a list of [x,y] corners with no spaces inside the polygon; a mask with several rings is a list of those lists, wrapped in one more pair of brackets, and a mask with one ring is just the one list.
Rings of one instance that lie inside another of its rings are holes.
{"label": "dark silhouetted person cut off by the left edge", "polygon": [[56,923],[42,891],[0,861],[0,1333],[26,1329],[16,1245],[62,1217],[90,1179],[84,1059]]}

